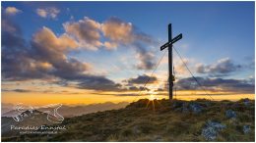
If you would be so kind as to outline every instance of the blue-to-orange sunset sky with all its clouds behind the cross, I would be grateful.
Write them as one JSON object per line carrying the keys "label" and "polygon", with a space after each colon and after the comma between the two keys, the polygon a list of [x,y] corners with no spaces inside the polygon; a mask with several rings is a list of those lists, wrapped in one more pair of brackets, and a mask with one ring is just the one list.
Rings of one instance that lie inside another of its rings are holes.
{"label": "blue-to-orange sunset sky with all its clouds behind the cross", "polygon": [[173,52],[176,98],[254,98],[254,9],[254,2],[1,2],[2,103],[167,98],[160,46],[168,24],[173,36],[183,34],[173,46],[203,85]]}

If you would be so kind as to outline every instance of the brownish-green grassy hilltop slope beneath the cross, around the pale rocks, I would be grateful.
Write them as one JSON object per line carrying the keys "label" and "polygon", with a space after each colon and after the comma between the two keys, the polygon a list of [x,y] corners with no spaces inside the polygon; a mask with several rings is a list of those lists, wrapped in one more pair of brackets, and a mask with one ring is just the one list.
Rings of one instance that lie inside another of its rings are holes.
{"label": "brownish-green grassy hilltop slope beneath the cross, around the pale rocks", "polygon": [[[242,101],[212,102],[207,100],[190,101],[204,107],[201,114],[182,113],[173,103],[185,101],[160,100],[156,110],[148,100],[132,103],[125,109],[98,112],[77,118],[65,119],[62,124],[67,130],[52,136],[23,135],[6,138],[5,141],[205,141],[201,135],[207,120],[221,121],[226,128],[216,141],[254,141],[255,115],[254,101],[245,106]],[[236,119],[227,119],[225,111],[237,113]],[[248,124],[251,131],[242,132]]]}

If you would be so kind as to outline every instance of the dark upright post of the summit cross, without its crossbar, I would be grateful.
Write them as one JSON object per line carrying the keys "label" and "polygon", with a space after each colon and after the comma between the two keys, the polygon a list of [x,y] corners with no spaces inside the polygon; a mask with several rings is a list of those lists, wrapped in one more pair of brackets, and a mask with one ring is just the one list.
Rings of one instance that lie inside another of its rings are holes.
{"label": "dark upright post of the summit cross, without its crossbar", "polygon": [[[168,24],[168,42],[171,43],[172,33],[171,33],[171,24]],[[168,45],[168,68],[169,68],[169,100],[172,100],[172,43]]]}

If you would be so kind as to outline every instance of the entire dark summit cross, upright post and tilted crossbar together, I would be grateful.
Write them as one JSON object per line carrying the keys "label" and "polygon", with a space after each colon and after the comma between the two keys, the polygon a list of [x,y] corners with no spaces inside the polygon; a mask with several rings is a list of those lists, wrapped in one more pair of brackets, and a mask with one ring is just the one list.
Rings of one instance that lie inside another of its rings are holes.
{"label": "entire dark summit cross, upright post and tilted crossbar together", "polygon": [[171,24],[168,24],[168,42],[166,42],[165,44],[160,46],[160,51],[162,51],[163,49],[168,47],[169,100],[171,100],[172,97],[173,97],[173,89],[172,88],[173,88],[173,80],[174,80],[174,76],[173,76],[173,73],[172,73],[172,44],[174,44],[175,42],[177,42],[181,38],[182,38],[182,33],[180,33],[179,35],[172,38]]}

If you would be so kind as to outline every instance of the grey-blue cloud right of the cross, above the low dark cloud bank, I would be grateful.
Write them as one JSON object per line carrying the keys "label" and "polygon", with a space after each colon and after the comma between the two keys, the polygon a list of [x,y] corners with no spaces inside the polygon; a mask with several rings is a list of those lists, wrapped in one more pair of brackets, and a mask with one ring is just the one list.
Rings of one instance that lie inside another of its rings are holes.
{"label": "grey-blue cloud right of the cross, above the low dark cloud bank", "polygon": [[234,64],[229,58],[224,58],[213,65],[197,65],[196,71],[198,73],[208,73],[211,76],[224,76],[239,71],[241,68],[241,65]]}

